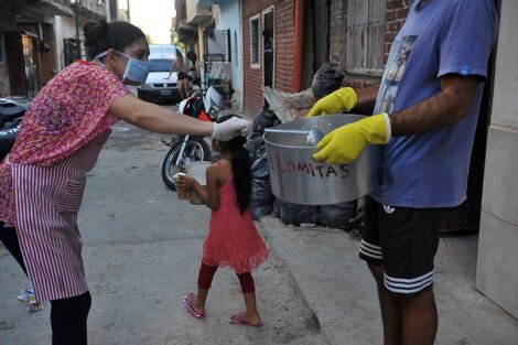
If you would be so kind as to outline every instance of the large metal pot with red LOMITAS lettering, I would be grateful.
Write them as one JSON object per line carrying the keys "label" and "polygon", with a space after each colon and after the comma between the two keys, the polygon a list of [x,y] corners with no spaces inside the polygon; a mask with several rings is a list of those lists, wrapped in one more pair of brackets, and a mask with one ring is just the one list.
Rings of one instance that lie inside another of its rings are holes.
{"label": "large metal pot with red LOMITAS lettering", "polygon": [[[363,118],[349,114],[317,116],[282,123],[274,129],[317,128],[326,134]],[[348,202],[368,194],[378,181],[379,145],[367,145],[350,164],[327,164],[313,160],[315,147],[307,145],[304,134],[266,132],[263,138],[271,190],[283,201],[303,205]]]}

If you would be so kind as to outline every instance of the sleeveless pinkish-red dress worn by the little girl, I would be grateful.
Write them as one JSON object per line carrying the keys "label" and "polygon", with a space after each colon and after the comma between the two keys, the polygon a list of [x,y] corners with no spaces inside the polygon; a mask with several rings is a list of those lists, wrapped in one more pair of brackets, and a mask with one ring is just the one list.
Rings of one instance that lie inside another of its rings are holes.
{"label": "sleeveless pinkish-red dress worn by the little girl", "polygon": [[234,176],[219,187],[219,208],[211,214],[207,238],[203,244],[202,262],[207,266],[228,266],[237,274],[250,272],[268,258],[268,248],[251,218],[250,207],[241,215],[234,187]]}

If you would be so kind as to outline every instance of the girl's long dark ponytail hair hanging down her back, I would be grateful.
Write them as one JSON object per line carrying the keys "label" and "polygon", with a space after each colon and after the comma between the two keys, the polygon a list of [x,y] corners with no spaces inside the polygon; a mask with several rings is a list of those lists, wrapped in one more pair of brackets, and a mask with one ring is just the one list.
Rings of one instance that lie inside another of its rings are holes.
{"label": "girl's long dark ponytail hair hanging down her back", "polygon": [[[238,117],[237,115],[225,115],[216,120],[216,122],[225,122],[226,120]],[[251,160],[250,154],[244,148],[247,139],[244,137],[235,137],[228,141],[220,141],[222,152],[233,153],[231,160],[234,174],[234,190],[236,191],[237,204],[241,214],[250,205],[251,198]]]}

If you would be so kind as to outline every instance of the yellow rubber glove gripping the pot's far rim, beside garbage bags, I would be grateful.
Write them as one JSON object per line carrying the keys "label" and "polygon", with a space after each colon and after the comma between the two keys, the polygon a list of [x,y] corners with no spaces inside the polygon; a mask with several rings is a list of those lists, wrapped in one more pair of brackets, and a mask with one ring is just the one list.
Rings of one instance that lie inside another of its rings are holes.
{"label": "yellow rubber glove gripping the pot's far rim, beside garbage bags", "polygon": [[319,99],[313,108],[311,108],[307,117],[349,111],[354,106],[356,106],[357,100],[358,96],[352,87],[342,87]]}

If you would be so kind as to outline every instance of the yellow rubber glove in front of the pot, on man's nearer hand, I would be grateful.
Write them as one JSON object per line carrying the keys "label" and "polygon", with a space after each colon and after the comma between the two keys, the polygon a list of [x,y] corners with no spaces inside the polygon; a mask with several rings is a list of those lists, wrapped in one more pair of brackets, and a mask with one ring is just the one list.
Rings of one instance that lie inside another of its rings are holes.
{"label": "yellow rubber glove in front of the pot, on man's nearer hand", "polygon": [[387,114],[373,115],[342,126],[316,144],[313,159],[328,164],[354,161],[368,143],[382,144],[390,140],[391,127]]}

